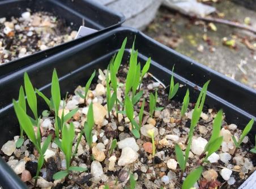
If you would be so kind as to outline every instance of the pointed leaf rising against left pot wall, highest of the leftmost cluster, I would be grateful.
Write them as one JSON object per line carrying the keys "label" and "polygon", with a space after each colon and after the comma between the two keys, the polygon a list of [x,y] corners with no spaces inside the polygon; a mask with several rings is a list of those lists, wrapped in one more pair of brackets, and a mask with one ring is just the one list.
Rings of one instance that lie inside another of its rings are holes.
{"label": "pointed leaf rising against left pot wall, highest of the leftmost cluster", "polygon": [[24,74],[24,83],[25,83],[25,92],[27,95],[28,105],[30,109],[32,110],[36,121],[38,119],[37,116],[37,99],[36,99],[36,93],[34,91],[33,85],[28,77],[27,72]]}

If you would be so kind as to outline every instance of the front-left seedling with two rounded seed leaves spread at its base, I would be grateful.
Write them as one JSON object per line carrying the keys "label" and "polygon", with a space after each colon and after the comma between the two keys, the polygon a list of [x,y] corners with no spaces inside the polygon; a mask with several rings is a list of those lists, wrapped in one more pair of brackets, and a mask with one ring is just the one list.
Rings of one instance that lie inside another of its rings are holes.
{"label": "front-left seedling with two rounded seed leaves spread at its base", "polygon": [[72,158],[72,144],[75,137],[75,127],[74,124],[71,122],[70,124],[64,124],[62,128],[62,140],[61,143],[57,142],[56,144],[65,154],[66,159],[66,170],[59,171],[53,175],[54,180],[59,180],[65,178],[70,171],[86,171],[83,167],[78,166],[70,166],[71,158]]}

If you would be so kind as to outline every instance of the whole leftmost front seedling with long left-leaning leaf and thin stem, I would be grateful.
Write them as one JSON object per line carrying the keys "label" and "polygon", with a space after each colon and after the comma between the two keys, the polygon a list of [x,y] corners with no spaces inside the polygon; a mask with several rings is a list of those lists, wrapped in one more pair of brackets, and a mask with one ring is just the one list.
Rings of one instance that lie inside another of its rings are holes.
{"label": "whole leftmost front seedling with long left-leaning leaf and thin stem", "polygon": [[41,133],[40,133],[40,126],[39,122],[37,123],[37,134],[35,134],[34,126],[32,124],[31,118],[25,113],[24,107],[20,106],[15,100],[12,100],[12,103],[14,104],[14,110],[16,113],[16,116],[18,117],[18,121],[20,126],[25,131],[25,134],[27,134],[29,140],[32,141],[32,143],[35,145],[37,151],[39,152],[39,159],[37,162],[37,171],[35,176],[35,184],[34,187],[36,187],[37,179],[39,177],[39,173],[41,170],[42,165],[44,164],[44,154],[50,144],[50,141],[52,139],[52,135],[49,135],[47,139],[44,141],[44,144],[41,147]]}

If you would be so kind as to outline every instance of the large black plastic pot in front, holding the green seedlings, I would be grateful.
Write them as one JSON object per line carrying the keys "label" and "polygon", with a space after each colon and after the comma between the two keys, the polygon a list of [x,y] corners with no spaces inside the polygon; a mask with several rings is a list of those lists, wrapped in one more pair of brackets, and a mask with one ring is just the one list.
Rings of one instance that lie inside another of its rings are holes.
{"label": "large black plastic pot in front, holding the green seedlings", "polygon": [[[176,51],[161,45],[136,29],[120,27],[112,31],[97,35],[87,41],[80,42],[71,48],[59,51],[48,58],[21,68],[20,70],[0,79],[0,91],[2,109],[0,110],[0,145],[13,139],[19,134],[19,124],[12,108],[12,98],[17,99],[19,87],[23,84],[25,71],[36,88],[39,88],[46,96],[50,96],[50,82],[53,68],[57,69],[62,96],[66,92],[74,92],[78,85],[84,85],[93,70],[104,69],[112,56],[120,48],[125,37],[128,38],[123,62],[129,60],[129,50],[136,36],[135,49],[139,51],[139,61],[146,62],[152,58],[150,72],[165,85],[169,84],[172,67],[175,65],[174,78],[185,87],[180,88],[174,100],[182,101],[186,88],[190,89],[191,102],[197,100],[200,87],[211,80],[208,87],[205,104],[208,108],[223,109],[228,123],[235,123],[243,128],[251,118],[256,115],[256,92],[234,80],[219,74],[216,71],[200,65],[177,53]],[[2,92],[4,94],[2,94]],[[45,103],[39,100],[39,112],[47,109]],[[254,141],[255,126],[250,132],[250,139]],[[12,182],[8,179],[11,178]],[[0,184],[6,188],[23,188],[20,179],[11,169],[6,169],[6,164],[0,161]]]}

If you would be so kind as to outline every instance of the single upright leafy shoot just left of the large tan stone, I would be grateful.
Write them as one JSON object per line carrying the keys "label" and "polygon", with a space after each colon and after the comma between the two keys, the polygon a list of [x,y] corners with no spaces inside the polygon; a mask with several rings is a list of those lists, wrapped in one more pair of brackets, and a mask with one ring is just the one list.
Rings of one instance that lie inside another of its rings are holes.
{"label": "single upright leafy shoot just left of the large tan stone", "polygon": [[92,102],[89,105],[88,113],[87,113],[87,122],[84,123],[84,134],[86,135],[86,141],[89,144],[89,147],[92,147],[92,129],[94,126],[94,118],[93,118],[93,108]]}

